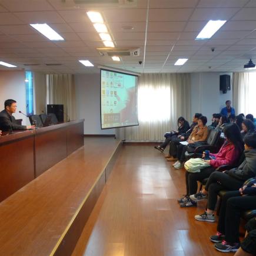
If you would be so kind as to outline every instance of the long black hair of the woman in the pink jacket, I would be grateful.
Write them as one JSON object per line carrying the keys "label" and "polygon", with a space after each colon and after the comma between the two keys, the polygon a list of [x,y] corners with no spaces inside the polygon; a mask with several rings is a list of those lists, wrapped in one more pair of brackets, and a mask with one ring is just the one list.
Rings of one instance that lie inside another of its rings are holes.
{"label": "long black hair of the woman in the pink jacket", "polygon": [[234,144],[235,148],[240,152],[244,150],[244,141],[242,141],[242,135],[237,124],[231,123],[223,129],[225,137],[229,142]]}

